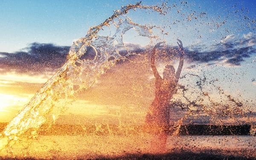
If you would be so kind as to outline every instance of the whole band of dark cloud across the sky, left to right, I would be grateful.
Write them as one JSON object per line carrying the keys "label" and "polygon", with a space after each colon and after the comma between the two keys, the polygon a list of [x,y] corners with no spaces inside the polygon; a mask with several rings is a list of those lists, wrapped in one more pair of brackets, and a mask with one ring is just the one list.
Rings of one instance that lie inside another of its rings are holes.
{"label": "whole band of dark cloud across the sky, left to right", "polygon": [[[249,33],[243,37],[228,35],[220,43],[205,46],[197,45],[185,48],[185,59],[189,63],[228,64],[239,66],[245,58],[256,53],[256,34]],[[126,49],[140,54],[148,53],[148,49],[135,44],[126,44]],[[46,71],[55,71],[60,68],[66,60],[70,46],[55,46],[51,43],[32,43],[23,51],[14,53],[0,52],[0,72],[16,71],[19,73],[37,74]],[[125,48],[118,46],[121,55],[127,54]],[[152,49],[152,47],[151,47]],[[178,57],[177,46],[160,47],[164,51],[164,60]],[[161,54],[161,53],[160,53]],[[136,56],[131,56],[136,57]],[[93,59],[91,56],[82,59]],[[194,65],[194,64],[192,64]],[[192,67],[191,67],[192,68]]]}

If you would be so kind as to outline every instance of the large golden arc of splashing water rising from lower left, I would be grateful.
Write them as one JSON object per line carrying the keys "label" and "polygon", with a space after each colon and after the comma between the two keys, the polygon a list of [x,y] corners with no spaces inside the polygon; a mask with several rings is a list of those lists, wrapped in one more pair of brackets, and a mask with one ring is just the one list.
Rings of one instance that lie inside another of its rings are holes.
{"label": "large golden arc of splashing water rising from lower left", "polygon": [[[116,33],[112,37],[98,35],[104,26],[116,23],[118,17],[136,8],[153,9],[162,13],[162,10],[157,6],[141,6],[140,3],[137,3],[116,10],[99,26],[90,28],[85,37],[73,43],[67,62],[8,124],[3,131],[4,136],[9,137],[9,140],[17,140],[21,135],[35,136],[36,131],[43,123],[54,121],[61,112],[65,111],[65,106],[70,103],[70,99],[74,98],[75,92],[89,89],[95,83],[96,78],[103,74],[106,69],[133,54],[128,51],[125,56],[122,56],[116,47],[117,45],[125,47],[122,35],[129,29],[134,28],[138,34],[148,37],[150,40],[156,38],[151,33],[153,26],[141,26],[133,23],[130,19],[117,23]],[[117,45],[114,45],[115,41]],[[95,54],[93,60],[80,60],[79,57],[87,54],[89,47]]]}

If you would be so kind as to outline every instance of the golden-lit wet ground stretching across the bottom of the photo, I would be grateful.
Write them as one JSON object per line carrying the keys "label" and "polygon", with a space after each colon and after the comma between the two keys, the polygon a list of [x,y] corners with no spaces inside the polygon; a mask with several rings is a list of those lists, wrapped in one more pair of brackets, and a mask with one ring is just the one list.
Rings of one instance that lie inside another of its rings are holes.
{"label": "golden-lit wet ground stretching across the bottom of the photo", "polygon": [[253,136],[169,137],[162,154],[152,153],[148,141],[146,135],[39,136],[22,140],[0,159],[256,160]]}

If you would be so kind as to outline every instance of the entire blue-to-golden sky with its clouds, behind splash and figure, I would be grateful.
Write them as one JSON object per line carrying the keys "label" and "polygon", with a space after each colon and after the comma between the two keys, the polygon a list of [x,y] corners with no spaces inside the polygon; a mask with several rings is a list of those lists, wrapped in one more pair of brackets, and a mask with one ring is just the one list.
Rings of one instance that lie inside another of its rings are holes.
{"label": "entire blue-to-golden sky with its clouds, behind splash and figure", "polygon": [[[29,102],[36,91],[65,63],[73,41],[84,37],[90,26],[99,25],[110,17],[113,10],[136,2],[134,0],[100,0],[97,2],[1,0],[0,122],[9,122],[22,109],[23,105]],[[157,5],[162,2],[145,0],[142,3]],[[253,111],[256,111],[254,106],[256,103],[256,11],[253,7],[256,2],[254,0],[208,2],[194,0],[187,1],[187,3],[185,1],[175,3],[170,1],[169,4],[172,8],[166,15],[131,11],[128,16],[136,23],[150,23],[162,28],[166,27],[164,30],[168,34],[163,35],[159,31],[156,33],[170,46],[177,46],[176,38],[183,41],[188,53],[185,56],[186,69],[184,69],[184,73],[186,71],[198,72],[202,69],[208,71],[209,79],[218,77],[220,79],[218,84],[235,97],[239,97],[242,93],[243,99],[252,100],[249,102],[250,106]],[[108,30],[103,33],[108,33]],[[124,41],[139,45],[141,49],[149,44],[149,40],[138,36],[134,31],[124,35]],[[177,66],[177,64],[175,65]],[[134,71],[137,71],[137,67],[134,67]],[[118,69],[123,70],[124,68],[119,66]],[[108,91],[111,88],[103,89],[105,85],[115,81],[111,77],[116,74],[120,76],[116,70],[116,68],[113,69],[112,74],[107,74],[99,79],[98,86],[96,85],[98,88],[94,87],[91,93],[87,94],[90,98],[80,98],[80,101],[75,103],[80,109],[79,111],[83,110],[84,114],[75,109],[69,109],[67,113],[83,116],[88,116],[89,112],[99,116],[104,113],[105,116],[115,118],[121,112],[124,114],[125,111],[121,109],[122,105],[130,104],[132,100],[124,98],[122,102],[108,104],[106,93],[111,94]],[[162,70],[163,64],[160,64],[159,71]],[[148,70],[147,76],[151,74]],[[127,76],[129,77],[129,75]],[[139,78],[140,76],[134,77]],[[125,80],[127,77],[121,79]],[[146,86],[152,82],[151,80],[143,85]],[[116,102],[118,101],[116,95],[129,89],[120,83],[115,82],[114,84],[116,92],[113,91],[114,94],[111,95],[113,101]],[[133,86],[134,84],[129,83],[129,85]],[[129,92],[129,94],[131,93]],[[132,95],[134,96],[134,94]],[[143,92],[143,95],[150,97],[149,100],[146,102],[138,100],[137,104],[139,106],[143,103],[150,105],[150,100],[154,98],[154,88],[151,87],[148,94]],[[105,108],[110,105],[113,108],[106,110]],[[132,103],[132,107],[134,105]],[[91,106],[94,106],[94,110],[90,109]],[[138,112],[133,110],[131,114],[143,116]]]}

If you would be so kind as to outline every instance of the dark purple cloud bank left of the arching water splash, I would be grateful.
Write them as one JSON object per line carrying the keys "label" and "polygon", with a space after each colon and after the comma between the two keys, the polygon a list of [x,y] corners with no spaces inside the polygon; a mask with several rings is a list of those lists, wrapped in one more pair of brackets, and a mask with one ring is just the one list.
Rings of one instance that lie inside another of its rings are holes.
{"label": "dark purple cloud bank left of the arching water splash", "polygon": [[2,72],[32,74],[54,71],[65,63],[69,49],[69,46],[55,46],[51,43],[32,43],[23,51],[0,52],[0,68]]}

